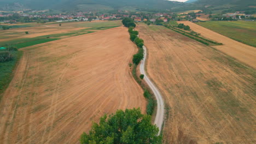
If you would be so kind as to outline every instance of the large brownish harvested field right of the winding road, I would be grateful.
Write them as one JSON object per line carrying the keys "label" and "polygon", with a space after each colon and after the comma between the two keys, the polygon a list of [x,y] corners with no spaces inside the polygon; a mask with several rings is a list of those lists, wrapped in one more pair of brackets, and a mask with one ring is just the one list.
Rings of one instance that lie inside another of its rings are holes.
{"label": "large brownish harvested field right of the winding road", "polygon": [[255,143],[255,69],[162,26],[136,27],[164,95],[163,143]]}

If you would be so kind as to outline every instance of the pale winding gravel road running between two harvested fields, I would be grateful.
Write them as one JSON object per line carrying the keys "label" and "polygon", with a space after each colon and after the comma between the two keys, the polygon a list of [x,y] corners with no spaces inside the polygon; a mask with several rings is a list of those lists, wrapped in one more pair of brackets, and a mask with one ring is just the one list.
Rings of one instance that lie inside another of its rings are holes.
{"label": "pale winding gravel road running between two harvested fields", "polygon": [[143,50],[144,50],[144,58],[142,59],[141,65],[139,66],[139,71],[141,72],[141,74],[144,75],[144,80],[147,82],[148,86],[152,89],[155,95],[156,101],[158,103],[158,109],[156,111],[156,117],[155,117],[154,123],[156,126],[158,126],[159,128],[158,135],[160,135],[162,124],[164,123],[165,105],[164,105],[164,100],[162,99],[162,95],[158,91],[158,88],[155,87],[154,83],[150,81],[147,74],[145,73],[145,62],[147,58],[147,49],[145,46],[143,46]]}

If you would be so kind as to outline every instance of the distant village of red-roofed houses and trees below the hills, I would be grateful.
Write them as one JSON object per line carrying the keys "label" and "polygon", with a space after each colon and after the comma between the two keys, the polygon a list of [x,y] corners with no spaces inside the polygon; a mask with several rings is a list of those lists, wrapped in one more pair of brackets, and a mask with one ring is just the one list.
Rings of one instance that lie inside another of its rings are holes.
{"label": "distant village of red-roofed houses and trees below the hills", "polygon": [[[2,14],[1,14],[2,12]],[[246,14],[246,11],[236,11],[235,13],[226,13],[221,15],[205,13],[201,10],[185,11],[182,13],[135,13],[129,11],[121,11],[118,13],[95,13],[95,12],[79,12],[74,14],[53,14],[49,10],[44,11],[0,11],[0,23],[16,23],[16,22],[65,22],[65,21],[97,21],[97,20],[121,20],[123,17],[131,17],[136,22],[168,22],[170,20],[183,21],[222,21],[222,20],[242,20],[246,19],[254,21],[255,14]],[[158,21],[159,20],[159,21]]]}

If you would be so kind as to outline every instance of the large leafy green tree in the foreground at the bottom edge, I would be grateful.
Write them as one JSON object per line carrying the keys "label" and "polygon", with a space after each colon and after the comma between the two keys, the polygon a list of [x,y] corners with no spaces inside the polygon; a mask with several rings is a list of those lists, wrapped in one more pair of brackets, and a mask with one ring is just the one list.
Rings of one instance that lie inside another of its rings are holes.
{"label": "large leafy green tree in the foreground at the bottom edge", "polygon": [[83,133],[81,144],[160,144],[158,128],[151,124],[151,117],[141,110],[118,110],[114,115],[104,115],[94,123],[89,134]]}

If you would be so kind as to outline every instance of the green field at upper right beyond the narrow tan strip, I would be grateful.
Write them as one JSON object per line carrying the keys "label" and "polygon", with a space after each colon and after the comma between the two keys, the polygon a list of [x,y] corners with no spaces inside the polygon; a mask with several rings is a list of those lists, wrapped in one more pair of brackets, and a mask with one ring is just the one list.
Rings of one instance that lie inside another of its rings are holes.
{"label": "green field at upper right beyond the narrow tan strip", "polygon": [[256,47],[255,21],[207,21],[197,24],[241,43]]}

